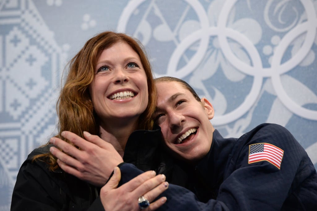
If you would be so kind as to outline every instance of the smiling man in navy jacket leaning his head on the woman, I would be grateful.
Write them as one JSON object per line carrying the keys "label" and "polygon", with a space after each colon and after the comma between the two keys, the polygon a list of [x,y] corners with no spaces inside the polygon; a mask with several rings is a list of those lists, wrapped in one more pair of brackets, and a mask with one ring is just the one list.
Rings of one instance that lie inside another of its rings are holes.
{"label": "smiling man in navy jacket leaning his head on the woman", "polygon": [[187,163],[200,201],[229,210],[316,208],[316,170],[287,129],[262,124],[240,138],[223,138],[210,123],[213,106],[185,81],[161,77],[156,88],[155,121],[172,155]]}

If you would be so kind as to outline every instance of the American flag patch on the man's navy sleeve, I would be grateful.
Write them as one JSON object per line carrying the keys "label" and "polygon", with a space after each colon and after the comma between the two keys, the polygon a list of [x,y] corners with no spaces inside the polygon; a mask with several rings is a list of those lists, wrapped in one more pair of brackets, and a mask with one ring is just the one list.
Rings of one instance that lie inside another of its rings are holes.
{"label": "American flag patch on the man's navy sleeve", "polygon": [[281,163],[284,155],[284,150],[277,146],[268,143],[251,144],[249,145],[248,163],[256,163],[260,161],[268,161],[275,165],[278,169],[281,168]]}

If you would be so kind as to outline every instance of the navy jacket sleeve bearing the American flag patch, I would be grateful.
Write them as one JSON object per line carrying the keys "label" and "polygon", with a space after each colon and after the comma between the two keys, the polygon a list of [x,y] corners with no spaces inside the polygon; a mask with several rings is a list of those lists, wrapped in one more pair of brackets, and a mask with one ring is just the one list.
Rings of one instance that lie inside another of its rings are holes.
{"label": "navy jacket sleeve bearing the American flag patch", "polygon": [[[257,152],[262,145],[267,149]],[[230,210],[316,208],[316,170],[286,128],[260,125],[238,139],[235,148],[217,197]]]}

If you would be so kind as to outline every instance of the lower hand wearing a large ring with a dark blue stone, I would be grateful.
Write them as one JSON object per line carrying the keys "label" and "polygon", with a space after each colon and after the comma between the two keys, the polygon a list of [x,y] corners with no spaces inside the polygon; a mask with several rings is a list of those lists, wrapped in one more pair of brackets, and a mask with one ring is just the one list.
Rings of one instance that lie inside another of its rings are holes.
{"label": "lower hand wearing a large ring with a dark blue stone", "polygon": [[164,175],[155,176],[155,171],[147,171],[116,188],[120,178],[120,169],[115,167],[113,176],[100,190],[100,199],[105,210],[139,211],[138,199],[142,195],[150,201],[150,206],[145,209],[147,211],[155,210],[165,203],[166,197],[161,197],[153,202],[168,188],[168,182],[164,182]]}

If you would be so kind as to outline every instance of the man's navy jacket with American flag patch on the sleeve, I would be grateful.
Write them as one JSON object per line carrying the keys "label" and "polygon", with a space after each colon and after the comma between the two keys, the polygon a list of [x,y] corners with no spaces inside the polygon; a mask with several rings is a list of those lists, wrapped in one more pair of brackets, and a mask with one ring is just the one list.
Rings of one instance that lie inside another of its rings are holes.
{"label": "man's navy jacket with American flag patch on the sleeve", "polygon": [[[261,152],[261,147],[273,150]],[[252,158],[252,152],[259,148]],[[281,153],[282,151],[282,153]],[[280,158],[279,158],[280,157]],[[279,162],[279,160],[281,162]],[[120,166],[122,182],[141,171]],[[209,153],[189,167],[190,189],[170,185],[159,210],[316,210],[317,173],[306,151],[280,125],[262,124],[240,138],[213,133]]]}

